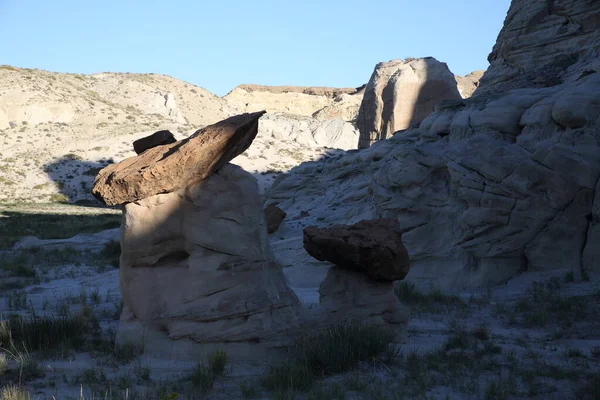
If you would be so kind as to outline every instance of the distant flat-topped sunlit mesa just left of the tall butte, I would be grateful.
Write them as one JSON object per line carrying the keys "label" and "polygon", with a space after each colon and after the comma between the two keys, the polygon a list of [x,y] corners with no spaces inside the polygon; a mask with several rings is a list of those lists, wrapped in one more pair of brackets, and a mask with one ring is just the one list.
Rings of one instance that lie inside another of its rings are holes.
{"label": "distant flat-topped sunlit mesa just left of the tall butte", "polygon": [[240,85],[223,98],[242,112],[266,110],[318,119],[356,119],[360,88]]}

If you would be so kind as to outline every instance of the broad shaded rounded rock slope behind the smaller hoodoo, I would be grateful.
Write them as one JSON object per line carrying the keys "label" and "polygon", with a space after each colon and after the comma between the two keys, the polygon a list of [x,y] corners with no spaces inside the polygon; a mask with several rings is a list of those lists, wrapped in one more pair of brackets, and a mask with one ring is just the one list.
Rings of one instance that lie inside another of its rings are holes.
{"label": "broad shaded rounded rock slope behind the smaller hoodoo", "polygon": [[442,286],[598,270],[599,115],[600,74],[447,103],[418,129],[292,170],[266,204],[310,209],[319,227],[398,219],[407,279]]}

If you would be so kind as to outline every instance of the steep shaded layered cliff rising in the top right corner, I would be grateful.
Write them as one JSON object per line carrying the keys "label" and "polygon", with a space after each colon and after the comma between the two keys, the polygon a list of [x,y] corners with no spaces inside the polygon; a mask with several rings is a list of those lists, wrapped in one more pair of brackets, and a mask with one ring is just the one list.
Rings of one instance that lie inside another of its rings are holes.
{"label": "steep shaded layered cliff rising in the top right corner", "polygon": [[513,0],[475,95],[549,87],[600,71],[600,2]]}

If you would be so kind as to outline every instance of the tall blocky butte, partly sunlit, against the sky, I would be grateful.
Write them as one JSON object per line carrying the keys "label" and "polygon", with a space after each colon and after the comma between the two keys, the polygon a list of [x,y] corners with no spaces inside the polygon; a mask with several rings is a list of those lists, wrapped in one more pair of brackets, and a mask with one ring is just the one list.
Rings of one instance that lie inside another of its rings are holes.
{"label": "tall blocky butte, partly sunlit, against the sky", "polygon": [[426,57],[377,64],[358,112],[358,147],[369,147],[420,123],[446,99],[461,96],[445,63]]}

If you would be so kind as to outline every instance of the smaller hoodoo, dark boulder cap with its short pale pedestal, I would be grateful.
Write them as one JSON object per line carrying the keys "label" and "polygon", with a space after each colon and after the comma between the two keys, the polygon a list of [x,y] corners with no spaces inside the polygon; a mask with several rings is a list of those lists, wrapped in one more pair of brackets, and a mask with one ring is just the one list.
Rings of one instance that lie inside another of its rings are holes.
{"label": "smaller hoodoo, dark boulder cap with its short pale pedestal", "polygon": [[396,297],[393,282],[404,279],[410,263],[398,221],[309,226],[303,244],[312,257],[335,264],[319,286],[320,319],[385,325],[395,329],[398,339],[404,335],[409,312]]}

